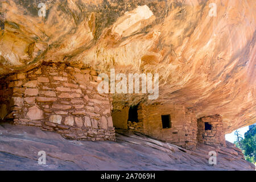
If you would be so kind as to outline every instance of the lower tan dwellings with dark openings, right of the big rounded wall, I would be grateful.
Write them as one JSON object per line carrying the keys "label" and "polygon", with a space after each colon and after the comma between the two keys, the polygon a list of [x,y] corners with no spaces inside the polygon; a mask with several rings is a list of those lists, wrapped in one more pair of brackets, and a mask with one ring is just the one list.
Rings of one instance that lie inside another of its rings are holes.
{"label": "lower tan dwellings with dark openings, right of the big rounded wall", "polygon": [[[197,144],[225,146],[220,115],[197,119],[192,110],[177,104],[139,104],[135,108],[137,110],[124,107],[122,110],[114,111],[114,127],[143,133],[185,148],[194,148]],[[130,119],[131,111],[137,115],[137,119]]]}

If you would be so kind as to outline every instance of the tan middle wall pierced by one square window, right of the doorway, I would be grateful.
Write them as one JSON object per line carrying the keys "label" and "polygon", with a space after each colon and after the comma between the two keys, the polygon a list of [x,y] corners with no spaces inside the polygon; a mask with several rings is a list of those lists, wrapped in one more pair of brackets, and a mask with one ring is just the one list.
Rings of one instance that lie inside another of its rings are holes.
{"label": "tan middle wall pierced by one square window, right of the doorway", "polygon": [[[176,104],[144,106],[143,110],[145,134],[181,147],[195,148],[197,122],[192,110]],[[167,114],[171,116],[171,128],[163,129],[161,115]]]}

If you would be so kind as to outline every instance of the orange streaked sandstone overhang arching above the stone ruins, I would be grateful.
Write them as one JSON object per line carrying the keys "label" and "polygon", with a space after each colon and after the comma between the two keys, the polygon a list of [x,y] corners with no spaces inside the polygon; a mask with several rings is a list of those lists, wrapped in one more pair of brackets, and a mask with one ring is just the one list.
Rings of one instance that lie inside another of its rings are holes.
{"label": "orange streaked sandstone overhang arching above the stone ruins", "polygon": [[[45,17],[38,16],[40,2]],[[209,16],[210,3],[2,0],[0,75],[43,61],[106,73],[159,73],[158,100],[115,95],[114,109],[141,100],[183,104],[197,118],[222,115],[230,133],[256,118],[256,2],[216,0],[216,16]]]}

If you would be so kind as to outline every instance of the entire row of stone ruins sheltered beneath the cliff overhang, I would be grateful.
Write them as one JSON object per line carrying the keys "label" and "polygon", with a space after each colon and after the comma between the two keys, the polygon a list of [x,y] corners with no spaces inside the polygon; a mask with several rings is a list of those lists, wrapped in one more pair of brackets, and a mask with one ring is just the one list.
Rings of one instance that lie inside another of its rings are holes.
{"label": "entire row of stone ruins sheltered beneath the cliff overhang", "polygon": [[112,112],[112,97],[97,92],[99,82],[93,69],[64,63],[43,63],[3,77],[1,118],[71,139],[115,140],[115,127],[186,148],[225,145],[220,115],[196,118],[192,110],[177,104],[138,104]]}

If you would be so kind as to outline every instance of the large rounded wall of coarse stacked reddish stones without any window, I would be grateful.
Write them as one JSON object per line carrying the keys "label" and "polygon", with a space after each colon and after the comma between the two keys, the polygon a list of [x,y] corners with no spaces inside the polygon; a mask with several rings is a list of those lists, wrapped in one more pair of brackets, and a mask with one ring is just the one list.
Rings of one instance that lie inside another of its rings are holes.
{"label": "large rounded wall of coarse stacked reddish stones without any window", "polygon": [[44,63],[8,79],[16,125],[39,126],[72,139],[115,140],[112,99],[97,92],[93,69]]}

